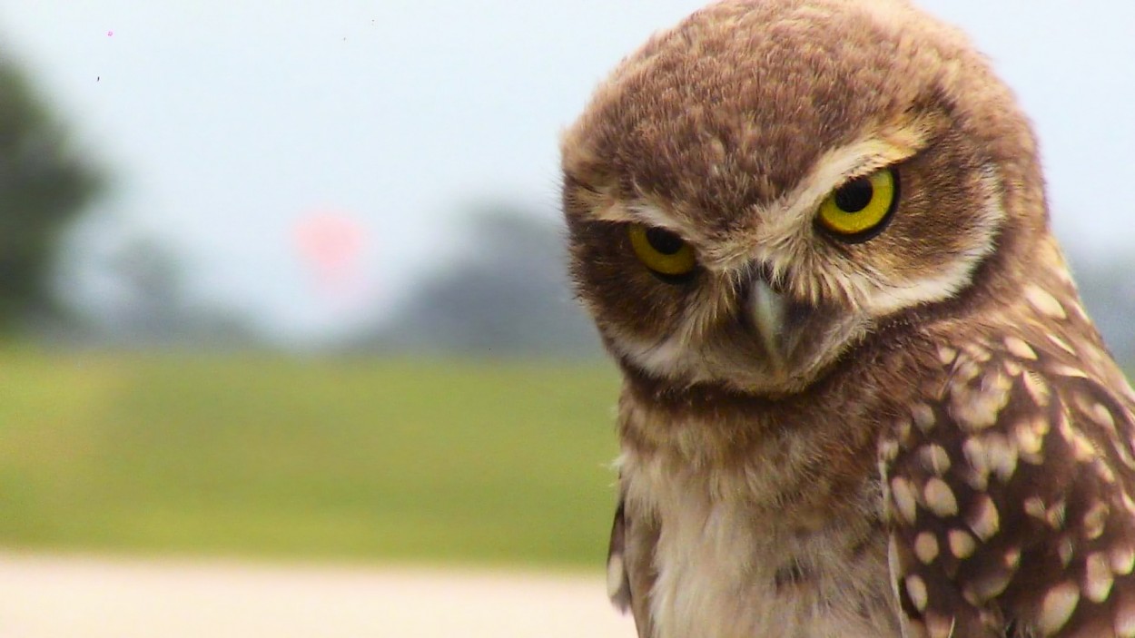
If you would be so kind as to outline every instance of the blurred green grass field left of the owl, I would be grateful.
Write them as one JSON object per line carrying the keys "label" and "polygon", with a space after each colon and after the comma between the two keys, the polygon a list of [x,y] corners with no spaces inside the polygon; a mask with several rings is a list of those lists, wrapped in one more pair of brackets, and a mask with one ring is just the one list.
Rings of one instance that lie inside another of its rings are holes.
{"label": "blurred green grass field left of the owl", "polygon": [[603,363],[0,351],[0,546],[602,565]]}

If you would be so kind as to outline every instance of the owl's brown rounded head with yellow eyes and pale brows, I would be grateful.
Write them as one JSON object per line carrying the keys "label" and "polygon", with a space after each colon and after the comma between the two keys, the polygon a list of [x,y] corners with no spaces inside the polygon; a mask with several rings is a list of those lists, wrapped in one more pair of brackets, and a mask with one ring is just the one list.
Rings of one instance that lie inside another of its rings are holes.
{"label": "owl's brown rounded head with yellow eyes and pale brows", "polygon": [[562,148],[579,295],[622,366],[679,385],[799,392],[1048,245],[1010,92],[902,0],[713,5],[623,60]]}

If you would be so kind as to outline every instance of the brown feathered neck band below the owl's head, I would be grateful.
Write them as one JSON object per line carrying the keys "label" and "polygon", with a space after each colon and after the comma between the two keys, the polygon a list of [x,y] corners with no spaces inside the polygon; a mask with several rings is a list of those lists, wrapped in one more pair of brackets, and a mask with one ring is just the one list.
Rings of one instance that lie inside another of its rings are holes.
{"label": "brown feathered neck band below the owl's head", "polygon": [[920,389],[907,379],[933,376],[927,368],[934,351],[925,339],[866,347],[805,392],[782,397],[721,385],[678,386],[630,369],[620,400],[621,444],[624,453],[675,471],[759,470],[781,484],[770,486],[770,501],[798,490],[801,480],[826,482],[831,492],[850,489],[840,477],[873,473],[886,420],[880,415],[897,413],[908,394]]}

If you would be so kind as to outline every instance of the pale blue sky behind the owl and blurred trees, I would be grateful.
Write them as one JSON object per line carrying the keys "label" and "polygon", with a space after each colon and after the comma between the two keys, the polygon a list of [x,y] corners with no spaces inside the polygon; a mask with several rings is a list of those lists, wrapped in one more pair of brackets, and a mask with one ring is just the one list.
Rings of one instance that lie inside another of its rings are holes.
{"label": "pale blue sky behind the owl and blurred trees", "polygon": [[[12,0],[0,64],[26,67],[114,176],[61,275],[77,303],[112,296],[99,265],[116,246],[153,241],[193,295],[303,343],[375,321],[476,249],[462,219],[480,203],[555,221],[560,131],[703,3]],[[1058,235],[1126,251],[1135,2],[919,5],[967,31],[1033,118]],[[337,242],[350,254],[327,263]]]}

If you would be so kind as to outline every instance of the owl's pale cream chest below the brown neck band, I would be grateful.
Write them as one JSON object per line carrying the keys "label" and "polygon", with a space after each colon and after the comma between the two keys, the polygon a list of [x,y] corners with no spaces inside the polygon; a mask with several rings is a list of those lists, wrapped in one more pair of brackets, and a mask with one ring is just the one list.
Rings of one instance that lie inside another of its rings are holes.
{"label": "owl's pale cream chest below the brown neck band", "polygon": [[653,552],[638,553],[653,564],[628,565],[656,574],[653,638],[899,636],[885,538],[872,521],[770,511],[711,488],[706,472],[627,470],[629,510],[658,526]]}

